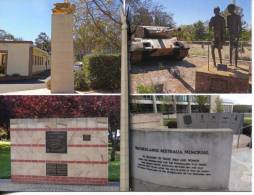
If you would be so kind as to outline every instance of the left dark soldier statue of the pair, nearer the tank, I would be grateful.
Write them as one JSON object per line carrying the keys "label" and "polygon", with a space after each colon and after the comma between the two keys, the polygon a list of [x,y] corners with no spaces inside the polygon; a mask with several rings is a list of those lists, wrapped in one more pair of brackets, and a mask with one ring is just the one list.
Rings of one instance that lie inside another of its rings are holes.
{"label": "left dark soldier statue of the pair, nearer the tank", "polygon": [[215,16],[209,22],[209,30],[213,30],[212,57],[216,67],[215,48],[218,49],[220,63],[222,64],[221,50],[224,44],[224,32],[226,27],[225,19],[220,15],[220,8],[214,8]]}

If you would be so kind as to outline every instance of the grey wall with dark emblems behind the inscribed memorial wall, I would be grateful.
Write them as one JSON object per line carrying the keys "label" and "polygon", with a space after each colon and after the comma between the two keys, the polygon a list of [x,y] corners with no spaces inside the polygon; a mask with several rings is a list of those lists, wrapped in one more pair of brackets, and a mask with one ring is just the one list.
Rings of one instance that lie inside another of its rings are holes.
{"label": "grey wall with dark emblems behind the inscribed memorial wall", "polygon": [[239,134],[243,127],[244,115],[240,113],[192,113],[177,114],[178,128],[218,129],[230,128]]}

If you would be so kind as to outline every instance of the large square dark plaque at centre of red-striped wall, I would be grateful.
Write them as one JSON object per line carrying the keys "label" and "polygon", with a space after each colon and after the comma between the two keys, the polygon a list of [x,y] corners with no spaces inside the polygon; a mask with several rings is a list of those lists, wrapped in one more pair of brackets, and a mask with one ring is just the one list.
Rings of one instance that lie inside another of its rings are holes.
{"label": "large square dark plaque at centre of red-striped wall", "polygon": [[67,132],[46,132],[46,153],[67,153]]}

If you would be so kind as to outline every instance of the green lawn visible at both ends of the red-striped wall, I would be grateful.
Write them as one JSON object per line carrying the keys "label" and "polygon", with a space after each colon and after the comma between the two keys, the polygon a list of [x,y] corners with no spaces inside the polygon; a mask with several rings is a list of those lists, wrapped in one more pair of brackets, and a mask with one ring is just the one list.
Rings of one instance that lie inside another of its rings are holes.
{"label": "green lawn visible at both ends of the red-striped wall", "polygon": [[[110,153],[109,153],[110,154]],[[0,179],[9,179],[11,175],[10,142],[0,141]],[[120,180],[120,155],[116,153],[116,160],[109,161],[109,180]]]}

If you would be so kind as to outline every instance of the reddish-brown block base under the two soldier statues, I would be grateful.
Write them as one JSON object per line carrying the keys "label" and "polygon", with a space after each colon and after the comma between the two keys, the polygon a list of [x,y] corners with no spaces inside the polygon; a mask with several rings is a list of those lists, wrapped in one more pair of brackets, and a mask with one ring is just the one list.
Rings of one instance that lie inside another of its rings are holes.
{"label": "reddish-brown block base under the two soldier statues", "polygon": [[195,91],[198,93],[246,93],[249,90],[249,73],[241,67],[231,66],[218,71],[210,66],[196,71]]}

